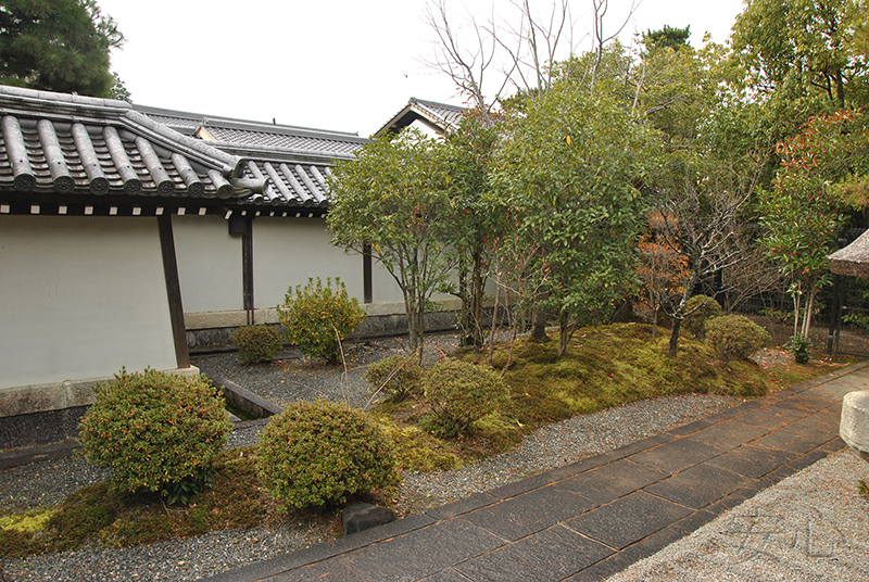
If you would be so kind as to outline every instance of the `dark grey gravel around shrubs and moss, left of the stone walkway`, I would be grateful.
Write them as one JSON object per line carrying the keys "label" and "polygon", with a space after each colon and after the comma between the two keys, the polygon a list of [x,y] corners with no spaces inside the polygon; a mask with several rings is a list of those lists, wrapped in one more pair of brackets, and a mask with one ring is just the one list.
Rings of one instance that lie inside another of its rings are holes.
{"label": "dark grey gravel around shrubs and moss, left of the stone walkway", "polygon": [[[455,339],[439,337],[431,346],[434,350],[427,358],[433,359],[454,347]],[[350,381],[345,385],[351,402],[354,402],[353,396],[364,398],[367,395],[368,387],[362,380],[364,366],[393,351],[402,351],[400,341],[378,340],[350,350],[348,359],[354,370],[348,375]],[[323,367],[312,367],[301,357],[288,354],[280,363],[256,367],[254,374],[253,370],[239,371],[232,364],[234,358],[235,354],[209,356],[198,358],[194,365],[282,405],[311,395],[342,396],[338,381],[340,367],[320,371]],[[240,376],[243,374],[251,376]],[[483,492],[691,422],[739,402],[739,398],[722,396],[675,396],[565,420],[536,431],[509,453],[451,471],[405,475],[398,509],[420,511]],[[234,432],[229,446],[255,443],[260,430]],[[70,492],[104,477],[103,471],[76,458],[0,471],[0,514],[58,503]],[[126,549],[92,547],[25,560],[4,559],[0,560],[0,574],[5,573],[9,581],[198,580],[320,543],[328,536],[325,524],[285,522]]]}

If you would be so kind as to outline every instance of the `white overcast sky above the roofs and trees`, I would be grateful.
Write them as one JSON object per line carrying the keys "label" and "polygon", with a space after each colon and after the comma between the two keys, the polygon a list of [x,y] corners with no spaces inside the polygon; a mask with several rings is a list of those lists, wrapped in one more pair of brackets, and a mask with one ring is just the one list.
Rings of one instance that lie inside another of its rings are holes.
{"label": "white overcast sky above the roofs and trees", "polygon": [[[127,41],[112,56],[133,100],[202,114],[358,132],[367,137],[411,97],[462,104],[449,77],[427,66],[434,34],[426,0],[98,0]],[[541,10],[550,0],[531,0]],[[486,22],[509,0],[448,0],[453,22]],[[610,0],[612,34],[630,0]],[[588,50],[591,0],[571,0],[574,36]],[[691,26],[725,42],[742,0],[643,0],[620,38]]]}

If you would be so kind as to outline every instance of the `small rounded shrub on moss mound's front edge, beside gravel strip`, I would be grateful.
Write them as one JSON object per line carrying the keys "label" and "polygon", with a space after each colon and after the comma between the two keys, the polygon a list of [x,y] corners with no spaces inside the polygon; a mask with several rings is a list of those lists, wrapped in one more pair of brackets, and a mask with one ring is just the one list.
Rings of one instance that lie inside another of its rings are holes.
{"label": "small rounded shrub on moss mound's front edge, beside gravel strip", "polygon": [[459,435],[491,413],[503,409],[509,391],[501,376],[488,366],[451,359],[436,365],[423,377],[431,405],[427,428],[442,435]]}

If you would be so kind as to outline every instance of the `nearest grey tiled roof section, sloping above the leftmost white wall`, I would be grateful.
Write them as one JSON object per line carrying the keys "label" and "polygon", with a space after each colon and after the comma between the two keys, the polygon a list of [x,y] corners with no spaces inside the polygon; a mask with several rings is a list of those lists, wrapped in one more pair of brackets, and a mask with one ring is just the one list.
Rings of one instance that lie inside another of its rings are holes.
{"label": "nearest grey tiled roof section, sloping above the leftmost white wall", "polygon": [[[238,199],[243,164],[121,101],[0,86],[0,192]],[[249,185],[250,186],[250,185]]]}

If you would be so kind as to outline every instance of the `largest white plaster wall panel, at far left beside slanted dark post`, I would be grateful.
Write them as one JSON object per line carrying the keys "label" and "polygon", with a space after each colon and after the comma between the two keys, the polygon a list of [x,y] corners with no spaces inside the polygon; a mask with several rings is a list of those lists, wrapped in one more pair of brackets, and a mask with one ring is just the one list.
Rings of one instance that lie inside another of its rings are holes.
{"label": "largest white plaster wall panel, at far left beside slanted dark post", "polygon": [[0,215],[0,388],[177,366],[155,218]]}

